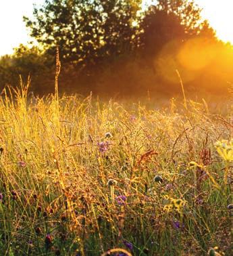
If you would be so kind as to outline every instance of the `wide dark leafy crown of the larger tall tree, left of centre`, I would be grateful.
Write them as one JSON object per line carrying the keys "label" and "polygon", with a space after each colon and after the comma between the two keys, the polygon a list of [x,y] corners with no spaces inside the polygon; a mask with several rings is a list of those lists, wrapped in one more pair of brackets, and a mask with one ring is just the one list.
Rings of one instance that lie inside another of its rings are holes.
{"label": "wide dark leafy crown of the larger tall tree, left of centre", "polygon": [[31,36],[63,62],[99,64],[132,51],[141,0],[46,0],[34,6],[34,19],[24,17]]}

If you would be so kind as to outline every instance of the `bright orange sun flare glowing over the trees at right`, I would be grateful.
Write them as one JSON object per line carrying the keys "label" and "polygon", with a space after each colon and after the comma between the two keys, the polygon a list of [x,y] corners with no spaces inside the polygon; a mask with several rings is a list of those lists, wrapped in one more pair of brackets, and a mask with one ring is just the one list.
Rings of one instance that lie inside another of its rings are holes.
{"label": "bright orange sun flare glowing over the trees at right", "polygon": [[181,44],[170,41],[159,52],[154,61],[157,74],[170,83],[178,83],[176,70],[180,72],[182,81],[195,81],[201,74],[209,77],[232,79],[232,47],[214,43],[205,38],[197,37]]}

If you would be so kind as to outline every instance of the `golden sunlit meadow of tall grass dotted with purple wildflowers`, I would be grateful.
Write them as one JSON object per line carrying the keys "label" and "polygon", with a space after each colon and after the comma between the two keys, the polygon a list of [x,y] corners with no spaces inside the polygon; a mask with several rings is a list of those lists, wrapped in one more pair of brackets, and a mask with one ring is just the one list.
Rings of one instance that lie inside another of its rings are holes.
{"label": "golden sunlit meadow of tall grass dotted with purple wildflowers", "polygon": [[3,93],[0,255],[231,255],[233,110],[184,103]]}

